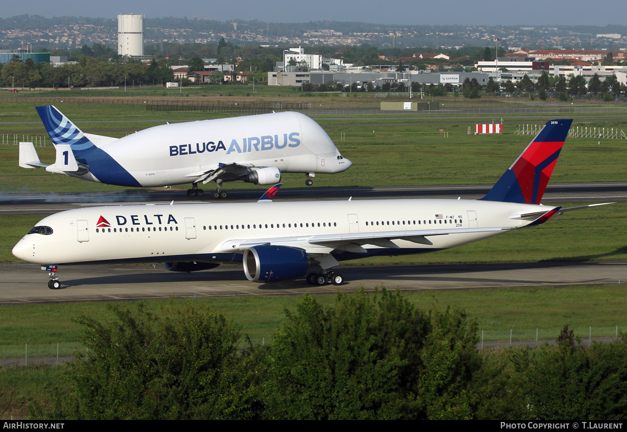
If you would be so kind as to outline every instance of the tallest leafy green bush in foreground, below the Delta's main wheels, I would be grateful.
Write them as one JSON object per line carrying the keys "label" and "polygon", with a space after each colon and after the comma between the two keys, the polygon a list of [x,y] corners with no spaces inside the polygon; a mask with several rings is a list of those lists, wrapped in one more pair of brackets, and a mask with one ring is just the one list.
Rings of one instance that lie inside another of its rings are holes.
{"label": "tallest leafy green bush in foreground, below the Delta's main wheels", "polygon": [[476,326],[421,312],[400,293],[305,295],[275,336],[265,418],[470,418]]}

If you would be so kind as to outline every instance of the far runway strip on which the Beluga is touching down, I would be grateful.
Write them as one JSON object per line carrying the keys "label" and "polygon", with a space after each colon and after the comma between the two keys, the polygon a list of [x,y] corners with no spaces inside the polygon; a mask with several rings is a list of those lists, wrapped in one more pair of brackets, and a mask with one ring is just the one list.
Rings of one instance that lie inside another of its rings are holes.
{"label": "far runway strip on which the Beluga is touching down", "polygon": [[[401,199],[401,198],[482,198],[492,185],[396,186],[396,187],[298,187],[281,189],[277,201],[308,201],[320,199]],[[256,201],[265,188],[228,191],[226,202]],[[207,189],[209,191],[209,189]],[[83,194],[0,194],[0,214],[50,214],[58,211],[106,205],[219,203],[209,194],[189,198],[185,191],[89,192]],[[544,204],[607,203],[627,201],[627,182],[556,183],[549,184],[542,199]]]}

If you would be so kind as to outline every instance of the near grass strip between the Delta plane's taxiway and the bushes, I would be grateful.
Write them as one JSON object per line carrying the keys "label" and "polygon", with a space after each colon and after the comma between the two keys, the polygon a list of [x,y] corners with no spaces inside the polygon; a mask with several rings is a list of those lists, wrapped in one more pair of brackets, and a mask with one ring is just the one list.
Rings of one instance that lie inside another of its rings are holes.
{"label": "near grass strip between the Delta plane's taxiway and the bushes", "polygon": [[[447,305],[466,310],[471,319],[485,329],[485,340],[508,340],[509,330],[515,326],[514,340],[555,339],[564,324],[576,334],[587,338],[593,324],[593,337],[611,337],[618,330],[627,329],[625,310],[627,297],[621,285],[561,288],[512,288],[507,290],[436,290],[406,293],[423,310],[445,309]],[[241,325],[243,334],[253,342],[271,343],[273,332],[285,317],[285,310],[295,310],[300,300],[293,296],[260,296],[229,298],[191,298],[206,307],[214,307],[228,319]],[[332,295],[320,295],[325,304],[334,301]],[[174,300],[181,303],[184,300]],[[134,308],[136,302],[124,302],[122,307]],[[158,312],[162,302],[146,300],[144,304]],[[581,307],[585,304],[586,307]],[[103,302],[73,302],[0,306],[3,314],[0,324],[0,358],[24,356],[28,340],[28,356],[60,356],[81,350],[80,325],[73,319],[84,314],[98,320],[110,320],[112,314]],[[621,322],[619,324],[619,322]]]}

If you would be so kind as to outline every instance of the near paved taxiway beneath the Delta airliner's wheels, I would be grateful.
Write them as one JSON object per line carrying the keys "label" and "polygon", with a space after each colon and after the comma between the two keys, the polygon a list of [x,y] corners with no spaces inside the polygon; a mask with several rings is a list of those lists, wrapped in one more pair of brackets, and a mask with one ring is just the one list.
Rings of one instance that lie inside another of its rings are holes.
{"label": "near paved taxiway beneath the Delta airliner's wheels", "polygon": [[0,304],[51,303],[142,298],[228,297],[334,293],[364,287],[401,290],[566,287],[611,284],[627,280],[627,261],[584,263],[497,263],[464,265],[340,266],[343,285],[312,287],[305,280],[258,284],[248,282],[241,266],[221,266],[194,273],[167,271],[152,265],[60,266],[60,290],[48,288],[48,273],[38,265],[0,265]]}

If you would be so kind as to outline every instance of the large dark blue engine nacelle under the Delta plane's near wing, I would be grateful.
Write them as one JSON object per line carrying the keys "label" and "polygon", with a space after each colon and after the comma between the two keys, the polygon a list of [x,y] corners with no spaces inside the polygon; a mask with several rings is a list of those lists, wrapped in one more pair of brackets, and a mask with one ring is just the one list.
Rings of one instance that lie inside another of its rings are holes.
{"label": "large dark blue engine nacelle under the Delta plane's near wing", "polygon": [[310,261],[300,248],[261,245],[244,251],[243,264],[248,280],[280,282],[304,276]]}

